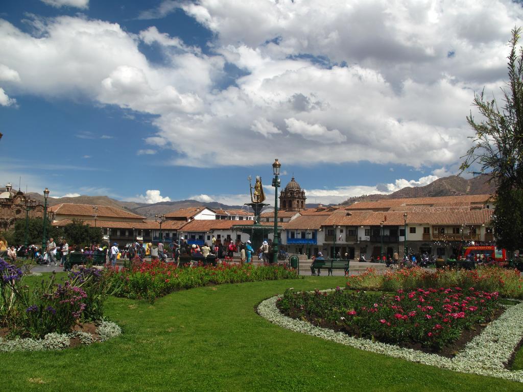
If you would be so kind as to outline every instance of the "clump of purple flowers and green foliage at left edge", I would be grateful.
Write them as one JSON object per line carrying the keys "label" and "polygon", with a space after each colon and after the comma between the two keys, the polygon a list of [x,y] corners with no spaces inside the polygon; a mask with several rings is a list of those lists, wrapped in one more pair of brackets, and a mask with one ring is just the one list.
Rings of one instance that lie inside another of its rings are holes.
{"label": "clump of purple flowers and green foliage at left edge", "polygon": [[7,338],[66,336],[79,324],[99,324],[105,300],[119,288],[103,272],[82,268],[61,283],[52,273],[30,290],[21,270],[1,258],[0,278],[0,335]]}

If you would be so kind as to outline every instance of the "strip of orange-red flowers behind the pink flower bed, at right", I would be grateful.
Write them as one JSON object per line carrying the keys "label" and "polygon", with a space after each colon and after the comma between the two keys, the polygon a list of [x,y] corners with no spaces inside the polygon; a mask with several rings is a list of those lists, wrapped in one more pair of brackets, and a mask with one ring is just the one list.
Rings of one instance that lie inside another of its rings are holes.
{"label": "strip of orange-red flowers behind the pink flower bed, at right", "polygon": [[429,271],[410,268],[378,274],[369,268],[361,275],[347,278],[347,287],[354,290],[416,290],[418,288],[474,287],[479,291],[498,292],[502,297],[523,299],[523,277],[518,270],[481,267],[473,271],[440,269]]}

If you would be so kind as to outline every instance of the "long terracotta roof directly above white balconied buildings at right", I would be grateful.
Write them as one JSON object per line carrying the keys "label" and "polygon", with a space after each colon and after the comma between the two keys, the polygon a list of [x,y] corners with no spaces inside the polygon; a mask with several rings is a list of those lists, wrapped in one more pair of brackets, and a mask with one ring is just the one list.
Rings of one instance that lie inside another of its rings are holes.
{"label": "long terracotta roof directly above white balconied buildings at right", "polygon": [[[425,207],[423,211],[407,212],[407,224],[426,225],[481,225],[491,222],[493,210],[441,209]],[[404,212],[401,211],[354,211],[333,213],[322,226],[403,226]]]}

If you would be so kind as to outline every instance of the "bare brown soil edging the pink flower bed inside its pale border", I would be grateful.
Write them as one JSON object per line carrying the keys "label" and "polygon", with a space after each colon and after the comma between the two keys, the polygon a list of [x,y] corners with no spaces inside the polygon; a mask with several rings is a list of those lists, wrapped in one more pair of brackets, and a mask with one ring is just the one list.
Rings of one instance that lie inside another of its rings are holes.
{"label": "bare brown soil edging the pink flower bed inside its pale border", "polygon": [[[296,318],[297,319],[298,318],[297,315],[299,315],[300,312],[301,311],[299,309],[292,308],[292,309],[290,309],[288,316],[291,317],[291,318]],[[504,312],[505,312],[504,308],[497,309],[494,312],[494,315],[493,315],[493,317],[491,317],[489,322],[494,321],[499,316],[501,316]],[[359,336],[355,336],[355,335],[349,333],[349,331],[347,331],[347,329],[344,328],[343,326],[339,326],[339,325],[333,324],[332,322],[328,322],[326,320],[318,320],[317,318],[311,316],[310,314],[306,315],[305,320],[310,322],[312,325],[314,325],[316,327],[332,329],[334,331],[343,332],[343,333],[346,333],[347,335],[359,338]],[[485,329],[485,327],[487,325],[488,325],[488,322],[486,322],[484,324],[476,324],[475,326],[473,326],[473,329],[471,328],[471,329],[463,330],[463,332],[461,333],[461,336],[456,341],[454,341],[452,343],[449,343],[449,344],[446,344],[444,347],[441,348],[441,350],[433,350],[431,348],[425,347],[421,343],[408,342],[408,341],[401,342],[401,343],[391,343],[391,344],[395,344],[395,345],[397,345],[399,347],[402,347],[402,348],[422,351],[422,352],[425,352],[425,353],[428,353],[428,354],[438,354],[438,355],[441,355],[441,356],[446,356],[447,358],[453,358],[475,336],[480,335],[480,333],[483,331],[483,329]],[[383,343],[389,343],[389,342],[383,342]]]}

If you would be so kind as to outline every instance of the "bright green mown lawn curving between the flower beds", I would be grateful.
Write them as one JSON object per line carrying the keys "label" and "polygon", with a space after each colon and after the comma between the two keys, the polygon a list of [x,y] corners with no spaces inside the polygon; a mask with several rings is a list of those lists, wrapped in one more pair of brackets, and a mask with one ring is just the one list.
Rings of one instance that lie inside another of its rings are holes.
{"label": "bright green mown lawn curving between the flower beds", "polygon": [[[33,282],[36,282],[36,278]],[[40,278],[41,280],[41,278]],[[292,332],[254,312],[264,298],[343,286],[343,277],[226,284],[143,301],[110,298],[123,335],[58,352],[0,353],[1,390],[521,391]]]}

